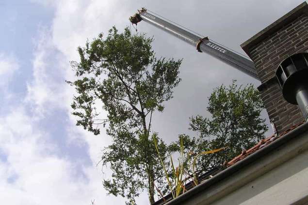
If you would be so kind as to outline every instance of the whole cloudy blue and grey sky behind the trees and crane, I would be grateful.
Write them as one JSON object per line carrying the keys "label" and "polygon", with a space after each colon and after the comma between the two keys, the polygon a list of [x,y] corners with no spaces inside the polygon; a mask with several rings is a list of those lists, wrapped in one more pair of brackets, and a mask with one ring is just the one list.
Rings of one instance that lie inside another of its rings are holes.
{"label": "whole cloudy blue and grey sky behind the trees and crane", "polygon": [[[76,127],[70,113],[74,80],[69,61],[77,47],[115,25],[120,31],[146,7],[242,54],[244,41],[303,0],[0,0],[0,201],[8,205],[124,204],[106,195],[97,166],[111,143]],[[259,82],[145,22],[138,32],[154,37],[158,57],[183,59],[182,82],[153,130],[171,142],[188,131],[189,117],[209,116],[213,88]],[[133,32],[135,32],[133,30]],[[263,117],[268,117],[263,112]],[[271,134],[270,130],[267,134]],[[137,199],[148,204],[146,193]]]}

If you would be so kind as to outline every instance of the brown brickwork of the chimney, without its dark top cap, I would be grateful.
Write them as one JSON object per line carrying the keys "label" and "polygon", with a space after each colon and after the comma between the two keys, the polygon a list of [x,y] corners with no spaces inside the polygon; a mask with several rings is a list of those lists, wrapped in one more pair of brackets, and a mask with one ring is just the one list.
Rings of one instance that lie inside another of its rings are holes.
{"label": "brown brickwork of the chimney, without its dark top cap", "polygon": [[[308,50],[308,16],[306,13],[252,45],[247,54],[255,62],[262,83],[275,77],[283,59]],[[260,90],[263,104],[279,133],[303,120],[296,105],[286,102],[279,85],[271,83]]]}

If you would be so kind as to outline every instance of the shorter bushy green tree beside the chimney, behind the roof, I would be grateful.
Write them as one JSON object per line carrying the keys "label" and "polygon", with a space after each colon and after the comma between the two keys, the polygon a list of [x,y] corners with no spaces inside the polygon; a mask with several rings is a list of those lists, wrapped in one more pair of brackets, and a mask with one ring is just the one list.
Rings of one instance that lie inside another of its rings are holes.
{"label": "shorter bushy green tree beside the chimney, behind the roof", "polygon": [[243,149],[254,146],[268,130],[260,116],[264,109],[259,91],[252,85],[232,85],[215,88],[209,97],[207,111],[210,117],[197,115],[190,118],[190,129],[197,136],[181,135],[186,148],[194,153],[221,147],[227,149],[213,155],[200,155],[197,169],[206,171],[222,164]]}

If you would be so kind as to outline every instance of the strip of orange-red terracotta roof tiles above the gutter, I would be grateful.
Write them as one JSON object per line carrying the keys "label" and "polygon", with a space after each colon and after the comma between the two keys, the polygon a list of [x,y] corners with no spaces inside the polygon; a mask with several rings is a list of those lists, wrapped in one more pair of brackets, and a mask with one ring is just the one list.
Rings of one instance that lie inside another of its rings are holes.
{"label": "strip of orange-red terracotta roof tiles above the gutter", "polygon": [[287,129],[286,131],[282,132],[280,135],[276,136],[275,134],[273,134],[272,136],[266,138],[266,139],[262,139],[259,141],[259,143],[251,148],[249,148],[248,150],[243,149],[242,153],[233,158],[231,161],[227,162],[227,167],[235,164],[238,161],[243,160],[244,158],[248,157],[249,155],[255,153],[256,151],[258,151],[259,149],[263,148],[264,146],[267,146],[269,144],[271,144],[272,142],[274,142],[276,139],[282,137],[283,135],[285,135],[286,133],[294,130],[295,128],[299,127],[300,125],[304,124],[304,122],[301,122],[297,125],[292,126],[291,128]]}

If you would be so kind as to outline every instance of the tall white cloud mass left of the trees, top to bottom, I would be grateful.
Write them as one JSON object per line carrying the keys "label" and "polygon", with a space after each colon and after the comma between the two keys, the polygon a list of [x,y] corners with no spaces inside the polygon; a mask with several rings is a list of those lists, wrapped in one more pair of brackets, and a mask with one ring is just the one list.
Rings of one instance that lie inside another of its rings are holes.
{"label": "tall white cloud mass left of the trees, top to bottom", "polygon": [[[0,160],[1,200],[12,205],[85,205],[92,199],[97,205],[124,204],[121,197],[106,196],[102,178],[110,172],[107,170],[103,175],[101,167],[96,167],[101,149],[110,139],[105,133],[93,136],[75,126],[76,118],[71,116],[69,106],[74,90],[65,83],[65,79],[74,79],[69,61],[77,59],[77,46],[101,32],[97,25],[104,24],[103,17],[107,21],[112,12],[110,3],[41,2],[53,6],[55,16],[52,27],[40,28],[38,37],[33,39],[33,78],[27,83],[25,105],[0,118],[0,153],[6,157],[5,161]],[[99,14],[99,10],[105,14]],[[111,26],[112,23],[109,22]],[[38,122],[54,120],[49,118],[49,113],[59,109],[68,117],[66,132],[63,136],[50,136]],[[50,141],[52,137],[65,137],[68,145],[88,145],[91,165],[60,157],[58,145]],[[147,202],[147,197],[141,200]]]}

